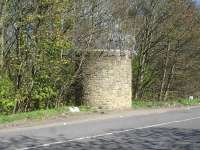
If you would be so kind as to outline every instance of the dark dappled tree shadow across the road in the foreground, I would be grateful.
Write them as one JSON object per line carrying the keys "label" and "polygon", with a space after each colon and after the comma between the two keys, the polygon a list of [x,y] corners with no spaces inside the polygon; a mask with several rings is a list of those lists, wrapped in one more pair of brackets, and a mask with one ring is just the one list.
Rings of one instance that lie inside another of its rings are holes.
{"label": "dark dappled tree shadow across the road in the foreground", "polygon": [[[0,150],[40,145],[55,142],[56,139],[43,137],[17,137],[7,141],[0,139]],[[64,137],[59,137],[64,139]],[[149,128],[111,136],[77,142],[66,142],[40,147],[37,150],[200,150],[200,130],[180,128]]]}

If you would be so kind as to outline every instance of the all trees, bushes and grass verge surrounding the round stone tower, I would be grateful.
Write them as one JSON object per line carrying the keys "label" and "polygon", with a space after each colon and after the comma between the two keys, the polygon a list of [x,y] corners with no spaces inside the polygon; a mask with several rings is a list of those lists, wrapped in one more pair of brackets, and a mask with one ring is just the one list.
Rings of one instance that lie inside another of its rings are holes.
{"label": "all trees, bushes and grass verge surrounding the round stone tower", "polygon": [[132,52],[133,107],[198,104],[183,100],[200,96],[195,1],[0,0],[0,122],[82,106],[84,50],[96,48]]}

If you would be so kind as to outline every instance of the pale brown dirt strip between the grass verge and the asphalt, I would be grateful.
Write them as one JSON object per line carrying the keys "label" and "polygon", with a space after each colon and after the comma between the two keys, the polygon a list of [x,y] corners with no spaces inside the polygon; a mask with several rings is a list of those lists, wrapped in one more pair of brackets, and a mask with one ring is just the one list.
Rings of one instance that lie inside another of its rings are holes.
{"label": "pale brown dirt strip between the grass verge and the asphalt", "polygon": [[39,122],[21,122],[18,125],[0,125],[0,133],[2,132],[15,132],[20,130],[41,129],[56,126],[65,126],[72,124],[79,124],[90,121],[103,121],[107,119],[124,118],[130,116],[148,116],[152,114],[162,114],[173,111],[183,111],[188,109],[196,109],[200,106],[186,106],[186,107],[173,107],[173,108],[150,108],[150,109],[130,109],[125,111],[108,111],[108,112],[95,112],[95,113],[83,113],[73,114],[72,116],[65,116],[59,119],[43,120]]}

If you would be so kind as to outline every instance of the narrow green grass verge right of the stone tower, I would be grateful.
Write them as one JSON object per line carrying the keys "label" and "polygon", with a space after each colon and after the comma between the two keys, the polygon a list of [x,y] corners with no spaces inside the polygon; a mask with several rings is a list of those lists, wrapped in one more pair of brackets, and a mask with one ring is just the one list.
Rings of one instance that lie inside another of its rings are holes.
{"label": "narrow green grass verge right of the stone tower", "polygon": [[200,105],[200,99],[178,99],[168,101],[156,101],[156,100],[133,100],[132,106],[134,109],[144,108],[170,108],[180,106],[196,106]]}

